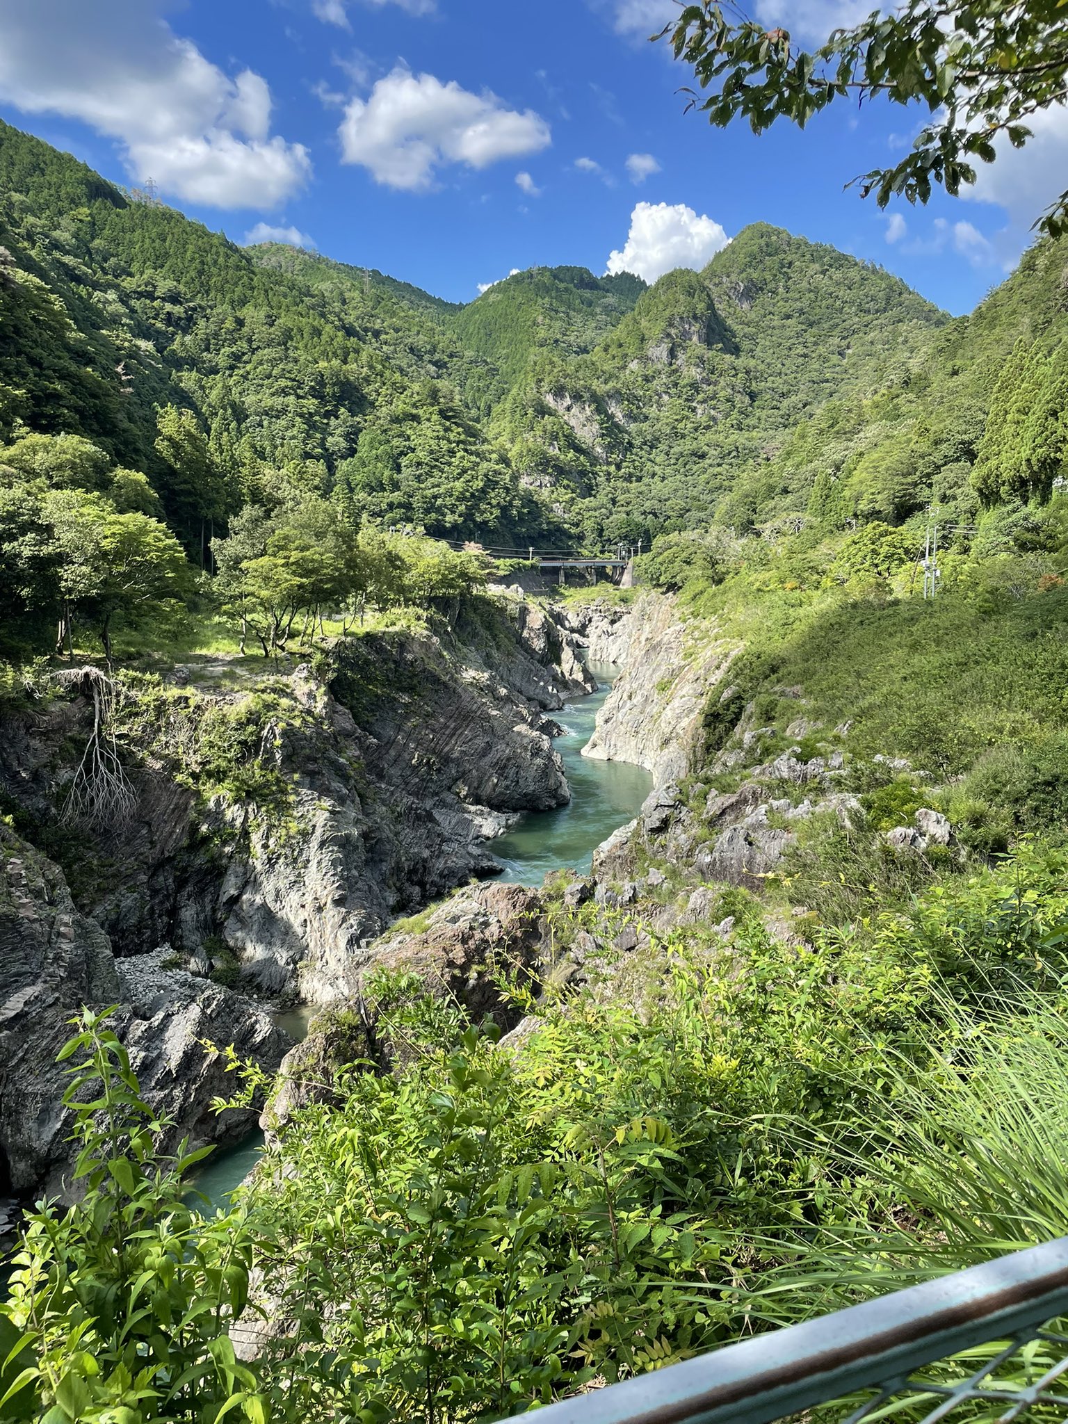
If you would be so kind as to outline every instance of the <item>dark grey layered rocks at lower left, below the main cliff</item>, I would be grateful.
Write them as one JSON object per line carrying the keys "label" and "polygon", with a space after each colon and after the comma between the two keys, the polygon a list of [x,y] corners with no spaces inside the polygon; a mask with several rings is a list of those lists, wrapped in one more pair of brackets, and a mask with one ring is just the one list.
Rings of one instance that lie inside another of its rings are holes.
{"label": "dark grey layered rocks at lower left, below the main cliff", "polygon": [[[195,1146],[248,1132],[251,1111],[211,1111],[232,1075],[202,1040],[234,1044],[276,1068],[292,1041],[251,1000],[159,965],[161,956],[117,963],[108,937],[81,914],[63,873],[0,824],[0,1168],[7,1188],[66,1189],[71,1112],[67,1065],[56,1055],[81,1008],[121,1007],[112,1027],[152,1108],[174,1119],[165,1146]],[[127,967],[128,965],[128,967]],[[135,968],[137,967],[137,968]]]}

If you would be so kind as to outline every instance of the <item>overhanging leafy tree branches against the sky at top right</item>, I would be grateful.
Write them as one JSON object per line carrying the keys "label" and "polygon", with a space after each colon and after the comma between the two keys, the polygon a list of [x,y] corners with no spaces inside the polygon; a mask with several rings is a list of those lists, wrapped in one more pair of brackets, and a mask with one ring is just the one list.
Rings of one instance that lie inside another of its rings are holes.
{"label": "overhanging leafy tree branches against the sky at top right", "polygon": [[[1064,97],[1068,43],[1059,0],[1007,9],[1000,0],[964,6],[909,0],[893,14],[874,10],[839,27],[813,53],[797,50],[785,28],[765,30],[716,0],[686,4],[672,33],[675,57],[693,68],[708,98],[691,107],[721,128],[745,117],[760,134],[778,118],[802,128],[834,100],[924,104],[933,115],[911,151],[893,168],[862,179],[880,208],[903,194],[927,202],[931,185],[957,194],[975,181],[975,162],[997,157],[995,138],[1014,148],[1031,137],[1028,120]],[[1051,202],[1054,194],[1051,192]],[[1068,229],[1068,194],[1041,221]]]}

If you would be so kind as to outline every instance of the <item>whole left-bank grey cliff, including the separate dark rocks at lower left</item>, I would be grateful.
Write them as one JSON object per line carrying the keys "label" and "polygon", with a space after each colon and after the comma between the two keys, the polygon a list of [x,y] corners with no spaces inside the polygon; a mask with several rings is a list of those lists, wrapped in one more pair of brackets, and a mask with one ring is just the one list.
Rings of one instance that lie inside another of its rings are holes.
{"label": "whole left-bank grey cliff, including the separate dark rocks at lower left", "polygon": [[436,635],[345,639],[315,668],[118,674],[108,735],[132,809],[75,823],[87,686],[43,685],[0,716],[16,827],[0,843],[0,1165],[23,1192],[63,1169],[54,1057],[85,1004],[120,1005],[177,1131],[246,1131],[209,1114],[231,1082],[201,1040],[276,1067],[289,1041],[258,1000],[349,994],[390,920],[491,876],[493,837],[568,799],[545,713],[588,678],[571,635],[515,601]]}

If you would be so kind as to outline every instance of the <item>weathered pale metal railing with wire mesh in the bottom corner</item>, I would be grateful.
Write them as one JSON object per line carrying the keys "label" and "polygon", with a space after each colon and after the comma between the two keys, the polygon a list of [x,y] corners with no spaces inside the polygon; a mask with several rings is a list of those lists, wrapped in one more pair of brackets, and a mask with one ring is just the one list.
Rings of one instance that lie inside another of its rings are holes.
{"label": "weathered pale metal railing with wire mesh in the bottom corner", "polygon": [[[538,1424],[770,1424],[864,1391],[843,1424],[1068,1417],[1068,1236],[538,1410]],[[994,1346],[981,1360],[954,1360]],[[943,1366],[928,1377],[917,1371]],[[1008,1376],[1008,1377],[1005,1377]],[[820,1410],[820,1417],[826,1411]]]}

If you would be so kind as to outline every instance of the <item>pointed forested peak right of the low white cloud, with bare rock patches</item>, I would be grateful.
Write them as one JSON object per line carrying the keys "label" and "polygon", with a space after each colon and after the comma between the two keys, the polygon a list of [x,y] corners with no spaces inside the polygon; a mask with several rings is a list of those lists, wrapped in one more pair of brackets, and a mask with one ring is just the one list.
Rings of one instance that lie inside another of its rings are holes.
{"label": "pointed forested peak right of the low white cloud, with bare rock patches", "polygon": [[587,356],[528,366],[494,429],[531,484],[592,494],[595,541],[699,527],[797,420],[907,373],[946,320],[880,268],[756,224]]}

